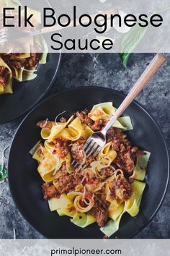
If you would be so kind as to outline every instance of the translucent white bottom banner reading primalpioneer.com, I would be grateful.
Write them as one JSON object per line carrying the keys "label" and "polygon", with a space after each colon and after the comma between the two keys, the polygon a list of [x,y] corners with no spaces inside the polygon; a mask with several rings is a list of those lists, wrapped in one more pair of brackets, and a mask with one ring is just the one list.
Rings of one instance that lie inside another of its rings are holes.
{"label": "translucent white bottom banner reading primalpioneer.com", "polygon": [[169,256],[168,239],[1,239],[1,256]]}

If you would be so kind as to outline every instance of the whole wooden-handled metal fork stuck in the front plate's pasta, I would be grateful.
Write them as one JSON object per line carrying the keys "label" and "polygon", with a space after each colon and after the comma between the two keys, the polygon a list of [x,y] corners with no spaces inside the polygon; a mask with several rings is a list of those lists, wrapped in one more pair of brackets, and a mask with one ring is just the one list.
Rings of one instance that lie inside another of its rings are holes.
{"label": "whole wooden-handled metal fork stuck in the front plate's pasta", "polygon": [[[126,96],[125,100],[122,101],[119,108],[117,108],[117,111],[115,111],[115,114],[112,116],[111,119],[107,122],[106,126],[99,132],[94,132],[88,140],[86,140],[86,143],[84,144],[84,152],[86,153],[86,157],[88,158],[91,155],[96,156],[104,147],[106,144],[106,135],[107,131],[110,127],[112,127],[113,124],[115,124],[115,121],[120,117],[120,115],[125,111],[125,109],[132,103],[132,101],[135,99],[135,97],[140,93],[140,91],[145,87],[147,82],[151,80],[153,75],[158,71],[158,69],[161,67],[161,65],[164,63],[166,59],[161,54],[156,54],[156,56],[153,58],[151,63],[148,65],[146,70],[143,72],[143,74],[140,76],[138,81],[135,83],[133,88],[130,90],[130,93]],[[77,168],[80,166],[78,162],[75,160],[72,161],[72,166],[74,168]]]}

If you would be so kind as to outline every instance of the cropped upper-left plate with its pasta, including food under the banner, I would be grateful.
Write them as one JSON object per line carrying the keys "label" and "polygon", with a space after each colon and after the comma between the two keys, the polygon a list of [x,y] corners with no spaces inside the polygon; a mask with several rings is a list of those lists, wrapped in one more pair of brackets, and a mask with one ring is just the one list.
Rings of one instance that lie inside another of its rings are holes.
{"label": "cropped upper-left plate with its pasta, including food under the banner", "polygon": [[[6,1],[6,7],[11,4]],[[17,9],[18,1],[13,4]],[[3,7],[3,1],[1,5]],[[34,26],[39,29],[41,18],[36,2],[28,12],[34,14]],[[27,32],[23,27],[20,30]],[[0,124],[22,116],[40,101],[55,79],[60,59],[60,53],[48,53],[42,35],[21,38],[15,43],[6,40],[0,53]]]}

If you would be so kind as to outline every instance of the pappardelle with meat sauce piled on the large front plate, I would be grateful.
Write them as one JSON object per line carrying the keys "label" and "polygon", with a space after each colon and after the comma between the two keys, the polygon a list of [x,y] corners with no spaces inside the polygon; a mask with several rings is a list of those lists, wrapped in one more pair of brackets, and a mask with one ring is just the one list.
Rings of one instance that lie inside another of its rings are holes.
{"label": "pappardelle with meat sauce piled on the large front plate", "polygon": [[[81,228],[97,222],[107,236],[119,229],[124,213],[138,214],[150,156],[130,144],[123,131],[133,125],[129,116],[123,116],[108,130],[99,154],[86,157],[83,147],[87,138],[102,129],[115,111],[107,102],[91,111],[78,111],[68,120],[38,121],[43,142],[30,151],[38,161],[50,210],[69,216]],[[81,168],[73,168],[73,159]]]}

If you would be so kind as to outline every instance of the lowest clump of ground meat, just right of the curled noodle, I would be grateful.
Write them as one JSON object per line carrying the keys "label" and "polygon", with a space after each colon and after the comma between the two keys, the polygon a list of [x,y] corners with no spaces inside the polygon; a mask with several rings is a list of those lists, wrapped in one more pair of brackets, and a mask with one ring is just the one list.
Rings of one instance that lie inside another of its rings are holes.
{"label": "lowest clump of ground meat, just right of the curled noodle", "polygon": [[102,202],[102,200],[96,195],[94,197],[94,207],[91,208],[89,213],[97,218],[97,224],[102,227],[107,222],[108,213],[107,213],[108,205]]}

